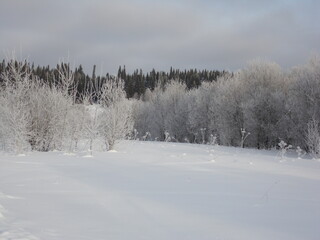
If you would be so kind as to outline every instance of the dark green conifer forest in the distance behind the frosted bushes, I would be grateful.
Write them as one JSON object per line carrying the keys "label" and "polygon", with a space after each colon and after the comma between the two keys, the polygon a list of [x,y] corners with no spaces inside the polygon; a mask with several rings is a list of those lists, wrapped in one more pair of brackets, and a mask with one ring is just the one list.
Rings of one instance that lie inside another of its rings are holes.
{"label": "dark green conifer forest in the distance behind the frosted bushes", "polygon": [[[0,64],[0,82],[3,82],[1,78],[2,74],[10,68],[10,65],[14,64],[18,66],[21,64],[18,61],[13,63],[9,60],[3,60]],[[68,63],[57,64],[55,68],[50,66],[35,66],[34,63],[25,62],[24,68],[28,68],[31,78],[39,78],[45,83],[50,85],[56,84],[60,81],[59,71],[61,68],[70,69]],[[116,76],[112,74],[105,74],[104,76],[97,76],[96,66],[93,66],[92,74],[88,75],[84,72],[82,65],[72,69],[73,80],[76,86],[76,95],[81,95],[91,92],[93,95],[96,92],[101,91],[104,83],[112,81],[115,78],[120,78],[124,81],[124,90],[127,98],[140,98],[146,91],[146,89],[154,90],[154,88],[161,83],[166,85],[171,79],[179,79],[179,81],[186,84],[188,89],[196,88],[201,85],[202,82],[215,81],[219,76],[223,75],[225,71],[218,70],[179,70],[170,68],[168,72],[156,71],[153,69],[148,73],[144,73],[141,69],[137,69],[132,73],[127,73],[125,66],[119,66]]]}

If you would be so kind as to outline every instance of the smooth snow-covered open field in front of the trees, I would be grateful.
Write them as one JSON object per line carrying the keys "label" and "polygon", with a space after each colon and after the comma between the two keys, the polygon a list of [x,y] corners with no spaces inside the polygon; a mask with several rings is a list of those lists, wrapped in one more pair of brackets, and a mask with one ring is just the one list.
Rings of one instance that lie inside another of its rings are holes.
{"label": "smooth snow-covered open field in front of the trees", "polygon": [[320,162],[126,141],[113,152],[0,153],[0,239],[319,239]]}

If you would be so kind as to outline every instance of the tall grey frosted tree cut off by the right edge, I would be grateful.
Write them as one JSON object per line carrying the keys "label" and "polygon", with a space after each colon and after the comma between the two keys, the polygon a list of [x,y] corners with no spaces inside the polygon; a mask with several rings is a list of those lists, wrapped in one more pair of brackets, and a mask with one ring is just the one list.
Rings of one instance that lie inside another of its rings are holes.
{"label": "tall grey frosted tree cut off by the right edge", "polygon": [[295,67],[290,80],[284,128],[294,145],[307,150],[308,123],[320,121],[320,58],[313,57],[306,65]]}

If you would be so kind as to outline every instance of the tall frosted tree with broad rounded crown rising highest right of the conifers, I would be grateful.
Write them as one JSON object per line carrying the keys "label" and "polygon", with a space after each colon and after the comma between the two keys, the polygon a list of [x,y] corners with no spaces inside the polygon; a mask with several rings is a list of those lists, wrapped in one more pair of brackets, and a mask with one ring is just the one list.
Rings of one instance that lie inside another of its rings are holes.
{"label": "tall frosted tree with broad rounded crown rising highest right of the conifers", "polygon": [[243,85],[243,126],[251,133],[247,143],[270,149],[281,134],[280,123],[286,112],[285,76],[276,63],[255,60],[240,71],[239,78]]}

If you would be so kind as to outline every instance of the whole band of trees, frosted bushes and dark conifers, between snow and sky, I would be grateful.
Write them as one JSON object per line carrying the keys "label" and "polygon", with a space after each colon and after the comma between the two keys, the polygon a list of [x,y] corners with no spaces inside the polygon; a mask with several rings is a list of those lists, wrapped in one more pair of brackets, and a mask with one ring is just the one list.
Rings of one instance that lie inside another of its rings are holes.
{"label": "whole band of trees, frosted bushes and dark conifers, between snow and sky", "polygon": [[[290,70],[255,60],[235,73],[171,69],[128,75],[121,67],[118,76],[99,77],[94,68],[82,85],[79,68],[68,64],[51,70],[52,78],[34,74],[37,68],[28,62],[9,61],[1,69],[2,149],[76,151],[86,140],[92,151],[96,140],[110,149],[130,138],[258,149],[285,142],[320,154],[318,57]],[[188,83],[192,75],[199,82]],[[130,92],[131,77],[143,80],[141,90]]]}

